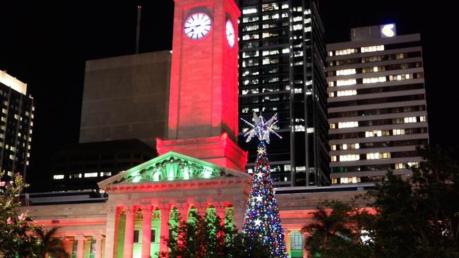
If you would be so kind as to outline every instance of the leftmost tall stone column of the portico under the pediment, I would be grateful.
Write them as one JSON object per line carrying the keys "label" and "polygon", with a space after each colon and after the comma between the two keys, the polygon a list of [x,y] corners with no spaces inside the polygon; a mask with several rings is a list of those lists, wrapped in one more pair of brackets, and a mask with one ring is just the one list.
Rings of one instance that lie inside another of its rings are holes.
{"label": "leftmost tall stone column of the portico under the pediment", "polygon": [[118,226],[121,209],[110,206],[107,209],[107,227],[105,228],[105,256],[117,257]]}

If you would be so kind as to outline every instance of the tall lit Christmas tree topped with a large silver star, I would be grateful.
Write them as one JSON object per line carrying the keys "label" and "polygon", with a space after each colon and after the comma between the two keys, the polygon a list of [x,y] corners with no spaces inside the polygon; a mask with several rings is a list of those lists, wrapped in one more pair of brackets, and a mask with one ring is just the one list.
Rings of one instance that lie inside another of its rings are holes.
{"label": "tall lit Christmas tree topped with a large silver star", "polygon": [[270,133],[278,135],[273,130],[273,126],[278,122],[275,121],[276,116],[277,114],[265,121],[263,116],[258,117],[254,113],[254,124],[242,119],[252,127],[246,133],[247,142],[254,136],[260,140],[242,231],[252,240],[258,239],[263,245],[266,245],[273,257],[287,258],[278,202],[275,199],[273,182],[270,178],[268,155],[266,154]]}

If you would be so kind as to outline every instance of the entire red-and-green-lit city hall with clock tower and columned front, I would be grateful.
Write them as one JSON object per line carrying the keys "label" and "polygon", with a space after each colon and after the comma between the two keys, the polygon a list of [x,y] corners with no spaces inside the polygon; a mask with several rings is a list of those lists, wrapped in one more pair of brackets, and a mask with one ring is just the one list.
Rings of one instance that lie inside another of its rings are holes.
{"label": "entire red-and-green-lit city hall with clock tower and columned front", "polygon": [[[167,252],[162,237],[169,237],[169,223],[177,216],[186,220],[191,210],[215,211],[242,227],[251,176],[244,173],[247,152],[237,145],[240,11],[233,0],[175,0],[174,8],[169,120],[166,139],[156,142],[160,156],[98,183],[107,199],[75,203],[73,193],[59,204],[42,195],[19,211],[45,228],[59,226],[72,257],[157,257]],[[347,201],[364,190],[279,189],[290,257],[307,257],[301,230],[318,202]]]}

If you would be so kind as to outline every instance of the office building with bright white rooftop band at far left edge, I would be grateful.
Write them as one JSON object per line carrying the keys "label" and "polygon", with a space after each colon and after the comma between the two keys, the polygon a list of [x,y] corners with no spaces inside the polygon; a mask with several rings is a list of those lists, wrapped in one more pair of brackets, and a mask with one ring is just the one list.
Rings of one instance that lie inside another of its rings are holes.
{"label": "office building with bright white rooftop band at far left edge", "polygon": [[27,84],[0,70],[0,169],[4,177],[20,173],[25,178],[35,107]]}

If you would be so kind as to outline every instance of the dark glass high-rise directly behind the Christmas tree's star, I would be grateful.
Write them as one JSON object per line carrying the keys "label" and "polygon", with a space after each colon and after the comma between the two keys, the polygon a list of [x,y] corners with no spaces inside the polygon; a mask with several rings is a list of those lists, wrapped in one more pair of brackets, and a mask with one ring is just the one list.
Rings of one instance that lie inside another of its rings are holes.
{"label": "dark glass high-rise directly behind the Christmas tree's star", "polygon": [[[328,125],[324,29],[316,1],[242,0],[239,8],[239,116],[278,113],[268,146],[276,186],[327,185]],[[249,173],[256,146],[249,150]]]}

